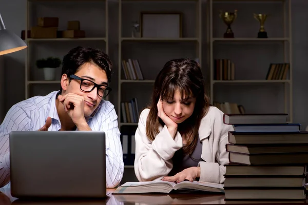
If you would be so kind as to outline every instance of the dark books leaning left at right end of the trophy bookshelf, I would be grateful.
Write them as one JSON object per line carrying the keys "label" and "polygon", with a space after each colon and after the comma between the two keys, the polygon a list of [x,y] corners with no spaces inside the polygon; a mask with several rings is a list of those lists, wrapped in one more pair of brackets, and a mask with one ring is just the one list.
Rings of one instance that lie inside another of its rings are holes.
{"label": "dark books leaning left at right end of the trophy bookshelf", "polygon": [[266,74],[267,80],[286,80],[290,72],[290,64],[269,64],[269,68]]}

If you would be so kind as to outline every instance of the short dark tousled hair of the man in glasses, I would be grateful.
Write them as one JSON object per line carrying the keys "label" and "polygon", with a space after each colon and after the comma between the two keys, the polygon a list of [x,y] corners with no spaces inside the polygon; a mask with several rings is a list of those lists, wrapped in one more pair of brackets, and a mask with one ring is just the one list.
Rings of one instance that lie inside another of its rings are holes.
{"label": "short dark tousled hair of the man in glasses", "polygon": [[[75,74],[79,68],[85,63],[92,63],[100,67],[106,72],[108,83],[112,76],[112,62],[109,56],[100,49],[84,48],[81,46],[71,49],[62,60],[62,73],[69,78]],[[71,79],[69,79],[70,81]],[[62,88],[60,89],[62,92]]]}

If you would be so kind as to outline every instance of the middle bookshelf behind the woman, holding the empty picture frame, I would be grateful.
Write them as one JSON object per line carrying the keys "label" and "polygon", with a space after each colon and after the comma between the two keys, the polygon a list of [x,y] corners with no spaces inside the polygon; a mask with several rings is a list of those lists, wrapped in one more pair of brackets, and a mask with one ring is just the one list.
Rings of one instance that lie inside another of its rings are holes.
{"label": "middle bookshelf behind the woman, holding the empty picture frame", "polygon": [[[189,57],[198,58],[202,64],[202,0],[119,0],[119,59],[118,59],[118,124],[121,134],[127,130],[136,132],[137,122],[123,122],[121,103],[136,97],[138,111],[149,102],[155,78],[170,59]],[[141,22],[141,13],[181,12],[181,37],[140,37],[131,35],[132,22]],[[122,60],[137,59],[143,73],[143,80],[126,79]],[[133,168],[125,165],[126,169]],[[127,171],[125,171],[127,173]],[[128,171],[130,172],[130,171]],[[132,172],[130,175],[134,175]],[[125,178],[125,176],[124,176]],[[124,179],[125,180],[125,179]]]}

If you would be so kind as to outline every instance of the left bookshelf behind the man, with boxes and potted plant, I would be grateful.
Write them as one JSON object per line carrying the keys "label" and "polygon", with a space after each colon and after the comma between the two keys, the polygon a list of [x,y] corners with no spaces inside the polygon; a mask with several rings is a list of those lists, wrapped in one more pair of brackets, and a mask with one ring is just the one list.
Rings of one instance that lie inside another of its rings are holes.
{"label": "left bookshelf behind the man, with boxes and potted plant", "polygon": [[25,32],[28,45],[25,60],[25,99],[60,89],[61,67],[55,69],[54,80],[45,80],[43,70],[35,66],[37,59],[53,56],[62,60],[64,55],[76,46],[100,48],[108,54],[108,0],[27,0],[26,31],[37,26],[38,17],[58,17],[58,31],[67,30],[69,20],[79,20],[85,37],[31,38]]}

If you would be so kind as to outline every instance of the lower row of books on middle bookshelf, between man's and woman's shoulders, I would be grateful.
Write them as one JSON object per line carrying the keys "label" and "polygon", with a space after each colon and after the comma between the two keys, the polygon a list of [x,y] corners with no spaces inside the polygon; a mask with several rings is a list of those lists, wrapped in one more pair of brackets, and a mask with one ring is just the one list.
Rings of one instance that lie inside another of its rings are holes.
{"label": "lower row of books on middle bookshelf, between man's and woman's shoulders", "polygon": [[139,120],[140,110],[136,97],[128,102],[121,102],[122,121],[124,123],[136,123]]}

